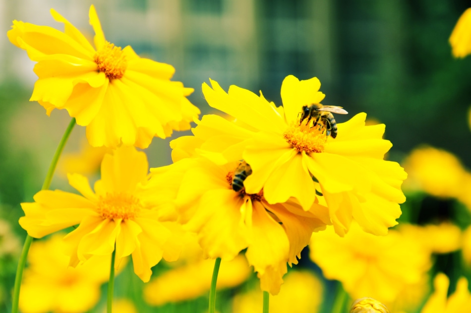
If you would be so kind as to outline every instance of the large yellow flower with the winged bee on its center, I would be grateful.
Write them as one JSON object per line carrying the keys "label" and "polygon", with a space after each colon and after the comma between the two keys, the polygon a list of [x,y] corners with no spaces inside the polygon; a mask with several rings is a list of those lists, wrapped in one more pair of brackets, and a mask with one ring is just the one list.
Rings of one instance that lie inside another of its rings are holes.
{"label": "large yellow flower with the winged bee on its center", "polygon": [[248,193],[263,188],[269,204],[294,197],[304,210],[326,203],[339,235],[353,220],[376,235],[386,235],[388,227],[397,224],[407,175],[398,163],[383,160],[391,147],[382,139],[383,124],[365,126],[366,114],[361,113],[337,124],[334,139],[312,120],[300,123],[302,106],[324,98],[317,78],[286,77],[281,89],[284,107],[237,86],[226,93],[217,82],[211,84],[213,88],[203,84],[205,99],[236,122],[204,116],[193,129],[194,137],[171,143],[174,161],[193,153],[218,164],[243,159],[253,170],[244,182]]}

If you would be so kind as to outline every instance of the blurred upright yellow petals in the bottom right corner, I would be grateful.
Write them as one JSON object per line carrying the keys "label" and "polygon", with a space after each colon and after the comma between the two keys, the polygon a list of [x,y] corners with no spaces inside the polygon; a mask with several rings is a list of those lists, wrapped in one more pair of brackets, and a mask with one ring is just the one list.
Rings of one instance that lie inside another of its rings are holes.
{"label": "blurred upright yellow petals in the bottom right corner", "polygon": [[445,274],[439,273],[433,281],[434,293],[428,298],[420,313],[463,313],[471,312],[471,295],[468,280],[460,278],[456,291],[447,299],[450,280]]}

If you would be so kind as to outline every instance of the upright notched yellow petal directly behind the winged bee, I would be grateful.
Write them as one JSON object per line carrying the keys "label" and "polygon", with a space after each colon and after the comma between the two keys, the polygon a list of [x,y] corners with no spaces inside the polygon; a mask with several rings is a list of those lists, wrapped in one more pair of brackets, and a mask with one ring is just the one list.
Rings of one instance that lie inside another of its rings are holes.
{"label": "upright notched yellow petal directly behind the winged bee", "polygon": [[320,103],[324,99],[320,86],[317,77],[299,81],[293,75],[286,76],[281,85],[281,99],[288,124],[298,119],[302,106]]}

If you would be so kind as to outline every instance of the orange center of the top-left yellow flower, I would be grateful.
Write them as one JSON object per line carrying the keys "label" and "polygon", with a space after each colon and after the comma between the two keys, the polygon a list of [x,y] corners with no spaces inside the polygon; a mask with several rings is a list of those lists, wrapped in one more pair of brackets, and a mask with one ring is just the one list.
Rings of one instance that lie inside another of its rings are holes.
{"label": "orange center of the top-left yellow flower", "polygon": [[121,78],[127,67],[121,47],[115,47],[108,41],[95,53],[93,61],[97,63],[98,71],[104,72],[109,79]]}

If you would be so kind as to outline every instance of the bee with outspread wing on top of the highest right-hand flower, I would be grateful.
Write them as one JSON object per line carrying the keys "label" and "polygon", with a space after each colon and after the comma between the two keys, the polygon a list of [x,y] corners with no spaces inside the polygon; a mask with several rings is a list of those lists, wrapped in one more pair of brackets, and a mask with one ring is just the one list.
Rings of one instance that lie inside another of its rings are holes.
{"label": "bee with outspread wing on top of the highest right-hand flower", "polygon": [[348,112],[342,107],[325,106],[320,103],[313,103],[310,106],[303,106],[301,108],[301,119],[299,120],[299,124],[307,119],[307,125],[312,119],[314,120],[312,127],[315,127],[320,121],[320,123],[325,127],[326,135],[335,138],[337,137],[337,123],[335,122],[334,116],[331,112],[337,114],[348,114]]}

